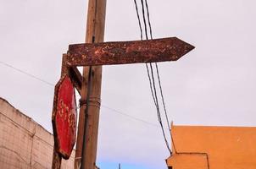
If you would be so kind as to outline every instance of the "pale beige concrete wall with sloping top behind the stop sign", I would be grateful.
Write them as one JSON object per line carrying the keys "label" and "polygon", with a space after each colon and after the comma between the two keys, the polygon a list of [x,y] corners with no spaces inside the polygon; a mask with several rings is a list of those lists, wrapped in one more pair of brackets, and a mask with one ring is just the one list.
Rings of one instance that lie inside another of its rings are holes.
{"label": "pale beige concrete wall with sloping top behind the stop sign", "polygon": [[[53,134],[0,98],[0,168],[51,168]],[[73,168],[75,151],[63,169]]]}

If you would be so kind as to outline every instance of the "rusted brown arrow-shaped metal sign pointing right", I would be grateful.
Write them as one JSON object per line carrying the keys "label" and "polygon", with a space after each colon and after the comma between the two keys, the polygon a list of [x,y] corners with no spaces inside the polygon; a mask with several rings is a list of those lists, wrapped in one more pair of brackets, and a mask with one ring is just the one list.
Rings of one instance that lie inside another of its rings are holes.
{"label": "rusted brown arrow-shaped metal sign pointing right", "polygon": [[67,66],[97,66],[176,61],[194,46],[176,37],[70,45]]}

